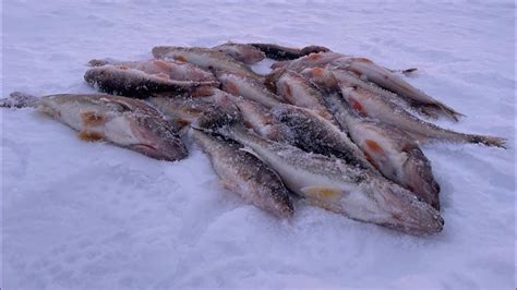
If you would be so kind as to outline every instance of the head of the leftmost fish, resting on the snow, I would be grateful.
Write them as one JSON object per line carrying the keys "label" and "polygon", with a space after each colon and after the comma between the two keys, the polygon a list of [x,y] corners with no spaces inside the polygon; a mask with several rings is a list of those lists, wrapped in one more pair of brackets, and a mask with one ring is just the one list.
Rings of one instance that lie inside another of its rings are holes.
{"label": "head of the leftmost fish, resting on the snow", "polygon": [[176,131],[161,118],[132,113],[127,117],[134,136],[128,147],[159,160],[175,161],[188,155]]}

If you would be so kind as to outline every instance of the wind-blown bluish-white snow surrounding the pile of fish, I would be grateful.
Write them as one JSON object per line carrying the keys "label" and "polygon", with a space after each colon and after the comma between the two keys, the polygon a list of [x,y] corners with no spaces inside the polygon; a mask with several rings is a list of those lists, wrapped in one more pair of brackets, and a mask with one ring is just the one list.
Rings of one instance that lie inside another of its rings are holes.
{"label": "wind-blown bluish-white snow surrounding the pile of fish", "polygon": [[315,44],[417,67],[412,84],[468,116],[438,124],[509,138],[423,148],[446,222],[416,238],[303,205],[279,221],[224,190],[192,144],[156,161],[1,110],[2,289],[514,287],[513,1],[2,2],[3,96],[91,93],[89,59],[155,45]]}

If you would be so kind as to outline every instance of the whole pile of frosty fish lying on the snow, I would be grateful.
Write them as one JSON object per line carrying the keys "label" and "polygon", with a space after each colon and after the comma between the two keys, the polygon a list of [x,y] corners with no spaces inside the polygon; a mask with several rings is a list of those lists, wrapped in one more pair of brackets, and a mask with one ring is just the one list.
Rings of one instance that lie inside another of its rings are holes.
{"label": "whole pile of frosty fish lying on the snow", "polygon": [[[221,183],[280,218],[293,202],[410,234],[443,229],[440,185],[420,145],[446,141],[504,147],[505,140],[429,122],[462,114],[396,71],[321,46],[228,43],[160,46],[154,59],[89,61],[84,80],[105,94],[34,97],[34,107],[79,131],[163,160],[206,153]],[[266,75],[250,65],[274,59]],[[109,94],[109,95],[108,95]],[[419,118],[422,117],[422,118]]]}

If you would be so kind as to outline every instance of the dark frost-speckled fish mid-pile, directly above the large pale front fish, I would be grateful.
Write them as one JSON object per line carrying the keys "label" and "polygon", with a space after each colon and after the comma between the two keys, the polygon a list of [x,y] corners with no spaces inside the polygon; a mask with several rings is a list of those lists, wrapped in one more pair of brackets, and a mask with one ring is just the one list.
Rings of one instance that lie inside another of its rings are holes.
{"label": "dark frost-speckled fish mid-pile, directly above the large pale front fish", "polygon": [[294,146],[305,152],[335,156],[349,165],[378,173],[346,133],[313,110],[282,104],[274,107],[272,113],[288,125],[294,135]]}

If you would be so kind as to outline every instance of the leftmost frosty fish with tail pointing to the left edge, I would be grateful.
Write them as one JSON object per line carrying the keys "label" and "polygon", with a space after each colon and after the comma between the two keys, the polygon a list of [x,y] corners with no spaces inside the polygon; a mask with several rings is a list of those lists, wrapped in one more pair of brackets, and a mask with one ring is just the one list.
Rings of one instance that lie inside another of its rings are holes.
{"label": "leftmost frosty fish with tail pointing to the left edge", "polygon": [[177,132],[156,109],[139,99],[106,94],[38,98],[14,93],[9,100],[0,100],[0,106],[36,108],[79,131],[81,140],[107,141],[159,160],[175,161],[188,156]]}

